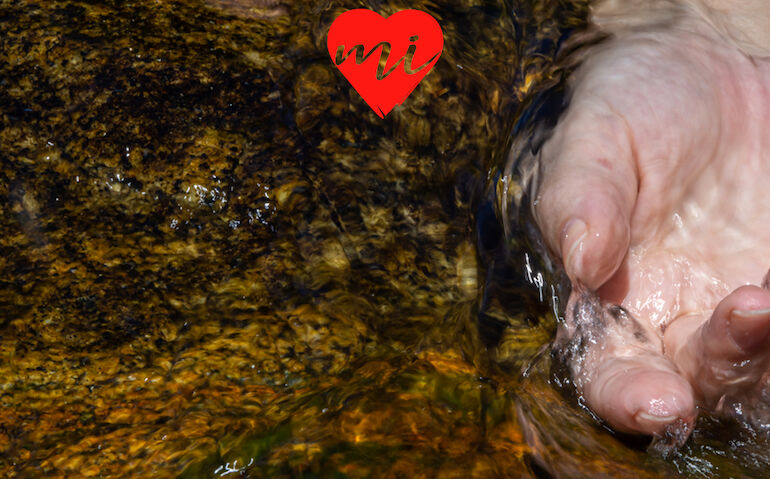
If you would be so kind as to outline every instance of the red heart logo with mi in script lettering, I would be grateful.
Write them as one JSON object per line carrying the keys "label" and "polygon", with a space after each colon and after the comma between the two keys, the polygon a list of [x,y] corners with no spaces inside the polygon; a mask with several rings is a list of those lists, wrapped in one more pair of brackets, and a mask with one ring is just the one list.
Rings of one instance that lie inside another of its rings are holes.
{"label": "red heart logo with mi in script lettering", "polygon": [[326,46],[353,88],[385,118],[436,64],[444,34],[432,16],[419,10],[401,10],[383,18],[371,10],[356,9],[334,20]]}

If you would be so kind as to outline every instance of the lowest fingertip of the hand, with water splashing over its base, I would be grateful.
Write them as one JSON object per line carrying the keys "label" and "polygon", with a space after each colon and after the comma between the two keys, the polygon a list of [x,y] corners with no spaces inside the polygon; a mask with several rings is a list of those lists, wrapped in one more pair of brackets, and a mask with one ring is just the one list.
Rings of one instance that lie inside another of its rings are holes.
{"label": "lowest fingertip of the hand, with water splashing over its base", "polygon": [[625,310],[573,290],[560,333],[572,335],[565,357],[573,383],[613,428],[657,434],[674,423],[692,424],[690,383],[663,355],[659,338]]}

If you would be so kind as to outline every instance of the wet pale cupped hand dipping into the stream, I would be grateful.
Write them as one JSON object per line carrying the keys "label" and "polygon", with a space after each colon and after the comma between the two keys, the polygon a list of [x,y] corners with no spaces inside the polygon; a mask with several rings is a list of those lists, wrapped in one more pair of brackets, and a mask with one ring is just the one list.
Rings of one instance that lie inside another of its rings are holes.
{"label": "wet pale cupped hand dipping into the stream", "polygon": [[647,26],[606,15],[621,27],[572,78],[533,206],[573,283],[574,382],[644,434],[766,402],[770,377],[770,49],[724,11],[659,3]]}

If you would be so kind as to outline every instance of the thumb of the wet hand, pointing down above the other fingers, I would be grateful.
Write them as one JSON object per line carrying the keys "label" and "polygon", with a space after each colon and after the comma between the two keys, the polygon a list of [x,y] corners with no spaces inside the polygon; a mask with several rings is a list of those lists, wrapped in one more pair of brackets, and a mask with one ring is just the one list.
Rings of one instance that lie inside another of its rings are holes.
{"label": "thumb of the wet hand, pointing down above the other fingers", "polygon": [[596,289],[630,241],[637,173],[622,118],[601,103],[573,104],[543,148],[534,216],[567,275]]}

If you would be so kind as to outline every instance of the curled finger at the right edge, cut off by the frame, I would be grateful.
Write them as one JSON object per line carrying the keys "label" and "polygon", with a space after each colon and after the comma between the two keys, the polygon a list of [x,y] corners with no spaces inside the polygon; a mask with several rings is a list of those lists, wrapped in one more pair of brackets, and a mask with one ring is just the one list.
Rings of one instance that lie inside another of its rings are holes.
{"label": "curled finger at the right edge, cut off by the frame", "polygon": [[710,407],[754,387],[770,365],[770,291],[741,286],[711,317],[691,315],[665,332],[666,351]]}

